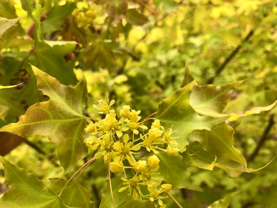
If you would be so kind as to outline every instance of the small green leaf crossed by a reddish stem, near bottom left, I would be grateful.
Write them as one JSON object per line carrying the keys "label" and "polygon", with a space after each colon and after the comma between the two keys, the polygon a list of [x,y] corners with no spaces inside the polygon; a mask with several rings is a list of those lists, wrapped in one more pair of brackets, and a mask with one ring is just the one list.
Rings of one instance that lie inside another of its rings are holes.
{"label": "small green leaf crossed by a reddish stem, near bottom left", "polygon": [[[49,179],[51,185],[49,189],[59,194],[66,184],[64,179]],[[69,183],[61,194],[61,199],[67,206],[93,208],[94,203],[90,201],[90,192],[78,183]]]}

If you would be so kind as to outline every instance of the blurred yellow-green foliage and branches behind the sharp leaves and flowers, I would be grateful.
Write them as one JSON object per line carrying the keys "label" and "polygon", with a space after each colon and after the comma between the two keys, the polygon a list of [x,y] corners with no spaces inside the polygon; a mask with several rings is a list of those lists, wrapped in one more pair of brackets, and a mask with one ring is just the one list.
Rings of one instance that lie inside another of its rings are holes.
{"label": "blurred yellow-green foliage and branches behind the sharp leaves and flowers", "polygon": [[[28,107],[48,98],[38,89],[29,63],[74,86],[87,79],[87,116],[100,119],[96,99],[115,99],[147,117],[179,89],[185,63],[199,84],[245,80],[226,112],[268,106],[277,98],[277,5],[273,0],[1,0],[0,17],[17,24],[0,39],[0,127],[16,122]],[[5,98],[5,99],[3,99]],[[119,109],[118,109],[119,110]],[[277,155],[276,107],[230,122],[234,146],[259,168]],[[5,147],[12,136],[1,136]],[[23,140],[21,138],[21,140]],[[13,149],[20,138],[10,144]],[[18,142],[19,141],[19,142]],[[63,175],[54,143],[42,136],[24,140],[6,155],[39,179]],[[6,154],[6,153],[1,153]],[[93,155],[89,152],[84,159]],[[95,168],[97,167],[97,168]],[[231,207],[276,207],[277,163],[237,179],[223,170],[188,167],[204,192],[172,192],[186,207],[206,207],[232,191]],[[97,161],[80,183],[99,205],[107,174]],[[3,168],[0,190],[6,190]],[[45,183],[49,184],[48,180]],[[175,207],[168,199],[168,207]]]}

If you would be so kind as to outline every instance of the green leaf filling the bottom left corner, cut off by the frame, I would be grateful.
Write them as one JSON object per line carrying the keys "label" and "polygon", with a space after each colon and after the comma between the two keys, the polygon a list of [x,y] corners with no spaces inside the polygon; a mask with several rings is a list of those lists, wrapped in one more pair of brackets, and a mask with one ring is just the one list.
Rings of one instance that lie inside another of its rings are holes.
{"label": "green leaf filling the bottom left corner, cut off by the frame", "polygon": [[0,156],[9,190],[0,198],[1,208],[69,208],[34,174],[27,173]]}

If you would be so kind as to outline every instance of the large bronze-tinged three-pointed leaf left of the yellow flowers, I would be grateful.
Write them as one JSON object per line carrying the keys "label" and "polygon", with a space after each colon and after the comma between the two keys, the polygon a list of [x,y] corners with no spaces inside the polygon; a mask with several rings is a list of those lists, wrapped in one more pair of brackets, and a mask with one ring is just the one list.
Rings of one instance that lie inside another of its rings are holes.
{"label": "large bronze-tinged three-pointed leaf left of the yellow flowers", "polygon": [[58,144],[61,165],[65,171],[71,171],[87,152],[83,144],[86,138],[86,118],[83,115],[87,102],[86,81],[68,87],[35,66],[32,69],[39,90],[50,100],[31,106],[17,123],[8,124],[0,131],[12,132],[24,138],[36,134],[46,136]]}

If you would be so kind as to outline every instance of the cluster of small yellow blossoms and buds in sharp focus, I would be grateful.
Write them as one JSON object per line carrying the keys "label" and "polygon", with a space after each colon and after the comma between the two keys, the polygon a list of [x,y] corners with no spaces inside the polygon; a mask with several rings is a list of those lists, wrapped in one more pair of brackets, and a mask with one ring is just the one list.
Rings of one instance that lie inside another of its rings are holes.
{"label": "cluster of small yellow blossoms and buds in sharp focus", "polygon": [[[135,200],[149,199],[164,208],[165,204],[161,199],[165,197],[161,194],[168,192],[172,186],[162,184],[157,188],[157,184],[161,184],[161,179],[160,173],[157,172],[160,160],[156,154],[159,154],[159,151],[166,152],[168,156],[179,154],[176,137],[171,137],[176,131],[172,131],[172,127],[165,130],[158,119],[153,121],[148,130],[147,126],[140,122],[140,110],[133,110],[127,105],[119,111],[118,120],[115,111],[110,109],[114,103],[114,100],[109,102],[109,99],[105,99],[98,100],[98,105],[93,105],[99,113],[106,115],[104,119],[91,123],[85,128],[85,131],[92,136],[84,143],[92,150],[98,150],[94,158],[103,156],[104,162],[109,163],[111,172],[124,173],[125,177],[121,177],[124,187],[120,188],[119,192],[128,190],[128,195],[132,195]],[[139,133],[139,130],[143,134]],[[146,130],[148,130],[147,133]],[[161,148],[164,145],[166,149]],[[147,151],[152,152],[152,155],[146,160],[137,161],[134,155],[140,154],[141,148],[146,148]],[[127,160],[130,166],[124,166],[124,160]],[[126,169],[132,169],[131,179],[127,179]],[[142,193],[141,186],[147,186],[149,194]]]}

